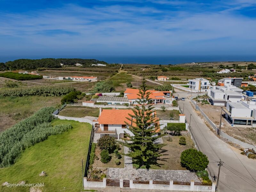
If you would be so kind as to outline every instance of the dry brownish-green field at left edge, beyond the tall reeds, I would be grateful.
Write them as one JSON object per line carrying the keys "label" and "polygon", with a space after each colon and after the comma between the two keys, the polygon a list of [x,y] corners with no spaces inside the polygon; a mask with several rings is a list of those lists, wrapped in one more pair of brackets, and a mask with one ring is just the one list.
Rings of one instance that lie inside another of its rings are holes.
{"label": "dry brownish-green field at left edge, beyond the tall reeds", "polygon": [[60,105],[61,97],[0,97],[0,132],[25,119],[40,108]]}

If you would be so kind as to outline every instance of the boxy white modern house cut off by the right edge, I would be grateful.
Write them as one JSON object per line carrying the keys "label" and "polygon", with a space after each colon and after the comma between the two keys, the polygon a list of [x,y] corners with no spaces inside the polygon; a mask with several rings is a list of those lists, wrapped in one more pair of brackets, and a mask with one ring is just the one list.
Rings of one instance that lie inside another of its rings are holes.
{"label": "boxy white modern house cut off by the right edge", "polygon": [[255,101],[237,101],[227,102],[224,109],[225,117],[232,124],[252,125],[256,124],[256,102]]}

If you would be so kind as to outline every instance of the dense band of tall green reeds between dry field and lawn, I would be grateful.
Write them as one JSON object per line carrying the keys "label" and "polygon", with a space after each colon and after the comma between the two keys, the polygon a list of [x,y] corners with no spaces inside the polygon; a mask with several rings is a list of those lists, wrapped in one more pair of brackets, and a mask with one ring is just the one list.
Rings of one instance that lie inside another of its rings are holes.
{"label": "dense band of tall green reeds between dry field and lawn", "polygon": [[[53,107],[42,108],[33,116],[24,119],[0,134],[0,167],[10,166],[16,161],[24,146],[29,146],[29,144],[25,144],[27,141],[24,136],[29,137],[29,132],[35,128],[43,130],[39,125],[51,122],[54,119],[52,115],[54,111],[55,108]],[[36,133],[34,133],[35,138],[33,140],[39,137]],[[42,137],[39,138],[40,141],[43,140]],[[31,143],[35,142],[33,140]]]}

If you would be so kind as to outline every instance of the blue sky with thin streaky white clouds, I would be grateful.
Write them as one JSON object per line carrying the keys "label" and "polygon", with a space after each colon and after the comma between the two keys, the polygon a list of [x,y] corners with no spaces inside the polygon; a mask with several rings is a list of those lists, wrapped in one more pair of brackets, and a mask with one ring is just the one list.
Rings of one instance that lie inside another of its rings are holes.
{"label": "blue sky with thin streaky white clouds", "polygon": [[0,0],[0,58],[255,55],[255,0]]}

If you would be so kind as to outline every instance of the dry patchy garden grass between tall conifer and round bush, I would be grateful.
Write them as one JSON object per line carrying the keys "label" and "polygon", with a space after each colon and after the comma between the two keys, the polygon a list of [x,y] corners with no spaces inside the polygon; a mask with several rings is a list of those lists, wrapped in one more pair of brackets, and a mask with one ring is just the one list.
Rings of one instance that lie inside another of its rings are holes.
{"label": "dry patchy garden grass between tall conifer and round bush", "polygon": [[[188,149],[188,148],[194,148],[194,143],[191,140],[190,136],[183,135],[182,137],[186,138],[186,145],[180,145],[179,140],[181,136],[171,136],[172,141],[167,141],[165,138],[163,138],[164,144],[166,146],[163,147],[163,150],[165,150],[164,153],[162,153],[163,156],[159,157],[159,160],[157,160],[157,165],[150,165],[150,169],[164,169],[164,170],[186,170],[186,168],[181,167],[180,165],[180,154],[182,151]],[[133,168],[137,168],[138,165],[133,164]],[[140,167],[142,169],[145,169],[145,166]]]}

